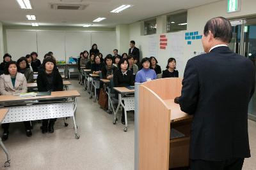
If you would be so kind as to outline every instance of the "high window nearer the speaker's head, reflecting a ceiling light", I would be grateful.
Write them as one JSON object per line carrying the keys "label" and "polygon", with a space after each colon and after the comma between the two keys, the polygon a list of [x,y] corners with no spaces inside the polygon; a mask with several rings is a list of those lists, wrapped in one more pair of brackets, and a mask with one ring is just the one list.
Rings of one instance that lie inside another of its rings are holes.
{"label": "high window nearer the speaker's head, reflecting a ceiling light", "polygon": [[167,32],[187,30],[187,11],[167,16]]}

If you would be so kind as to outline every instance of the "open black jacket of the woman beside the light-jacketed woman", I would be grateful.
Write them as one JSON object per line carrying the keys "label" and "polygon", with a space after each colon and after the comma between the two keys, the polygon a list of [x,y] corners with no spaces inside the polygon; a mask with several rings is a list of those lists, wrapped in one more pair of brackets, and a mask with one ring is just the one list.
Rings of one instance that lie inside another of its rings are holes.
{"label": "open black jacket of the woman beside the light-jacketed woman", "polygon": [[[52,92],[62,91],[63,90],[63,80],[62,80],[61,75],[57,68],[54,68],[54,70],[52,72],[52,76],[53,76]],[[46,78],[45,71],[38,72],[36,83],[37,83],[38,92],[48,92],[49,91],[50,88],[49,88],[49,83]]]}

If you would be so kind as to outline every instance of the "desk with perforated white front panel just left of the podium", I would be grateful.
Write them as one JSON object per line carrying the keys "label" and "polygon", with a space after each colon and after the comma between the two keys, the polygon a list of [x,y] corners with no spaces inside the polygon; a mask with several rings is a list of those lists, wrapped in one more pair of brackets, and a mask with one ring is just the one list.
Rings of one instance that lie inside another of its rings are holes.
{"label": "desk with perforated white front panel just left of the podium", "polygon": [[[116,124],[116,114],[118,109],[120,108],[120,105],[124,109],[124,116],[125,116],[125,127],[124,131],[127,132],[127,111],[129,110],[134,110],[134,95],[129,96],[129,94],[134,94],[134,89],[130,90],[127,89],[126,87],[114,87],[114,90],[118,92],[118,105],[116,107],[116,111],[114,111],[114,120],[113,124]],[[124,101],[124,103],[122,102]]]}

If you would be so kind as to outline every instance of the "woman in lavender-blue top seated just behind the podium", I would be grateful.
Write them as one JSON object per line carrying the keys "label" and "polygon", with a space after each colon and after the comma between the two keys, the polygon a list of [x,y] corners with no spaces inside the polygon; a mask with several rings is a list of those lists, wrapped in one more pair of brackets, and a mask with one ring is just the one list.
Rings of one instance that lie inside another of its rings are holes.
{"label": "woman in lavender-blue top seated just behind the podium", "polygon": [[144,83],[145,81],[155,80],[157,78],[156,71],[150,69],[150,60],[145,57],[141,60],[142,69],[138,71],[135,82]]}

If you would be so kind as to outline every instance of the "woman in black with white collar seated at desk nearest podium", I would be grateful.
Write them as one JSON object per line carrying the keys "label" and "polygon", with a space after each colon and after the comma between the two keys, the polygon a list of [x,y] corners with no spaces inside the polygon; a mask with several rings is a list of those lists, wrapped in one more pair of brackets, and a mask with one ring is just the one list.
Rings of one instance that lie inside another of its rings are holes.
{"label": "woman in black with white collar seated at desk nearest podium", "polygon": [[[114,85],[115,87],[128,87],[134,85],[132,71],[128,70],[127,59],[120,59],[118,69],[114,72]],[[121,122],[122,124],[125,124],[124,109],[122,110]]]}

